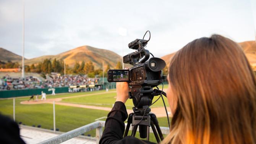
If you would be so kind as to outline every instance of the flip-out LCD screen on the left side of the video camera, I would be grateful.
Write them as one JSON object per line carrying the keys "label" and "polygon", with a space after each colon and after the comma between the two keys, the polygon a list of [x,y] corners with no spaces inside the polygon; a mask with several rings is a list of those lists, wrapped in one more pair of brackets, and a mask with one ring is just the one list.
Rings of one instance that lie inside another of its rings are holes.
{"label": "flip-out LCD screen on the left side of the video camera", "polygon": [[109,82],[129,81],[129,70],[109,70],[107,80]]}

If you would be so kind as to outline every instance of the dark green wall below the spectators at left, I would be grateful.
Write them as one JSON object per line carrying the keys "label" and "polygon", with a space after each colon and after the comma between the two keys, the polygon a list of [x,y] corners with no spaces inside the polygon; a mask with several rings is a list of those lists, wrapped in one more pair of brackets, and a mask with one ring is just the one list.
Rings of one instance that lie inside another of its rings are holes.
{"label": "dark green wall below the spectators at left", "polygon": [[[54,87],[55,93],[64,93],[68,92],[68,87]],[[44,89],[21,89],[21,90],[8,90],[8,91],[0,91],[0,98],[9,98],[9,97],[21,97],[28,95],[41,95],[41,91],[46,94],[52,94],[52,88],[44,88]]]}

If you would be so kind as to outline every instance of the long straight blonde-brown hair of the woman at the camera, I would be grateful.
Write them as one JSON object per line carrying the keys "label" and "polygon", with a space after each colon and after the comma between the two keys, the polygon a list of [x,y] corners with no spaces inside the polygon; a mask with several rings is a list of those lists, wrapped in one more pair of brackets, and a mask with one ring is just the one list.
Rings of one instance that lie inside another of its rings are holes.
{"label": "long straight blonde-brown hair of the woman at the camera", "polygon": [[172,58],[177,109],[163,144],[255,144],[256,80],[241,47],[213,35]]}

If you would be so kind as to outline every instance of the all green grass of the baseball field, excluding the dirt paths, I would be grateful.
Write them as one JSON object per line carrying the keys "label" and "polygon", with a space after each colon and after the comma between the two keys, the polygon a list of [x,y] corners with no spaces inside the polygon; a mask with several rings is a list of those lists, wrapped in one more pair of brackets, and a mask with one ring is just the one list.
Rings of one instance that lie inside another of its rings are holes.
{"label": "all green grass of the baseball field, excluding the dirt paths", "polygon": [[[113,92],[111,92],[113,91]],[[84,97],[68,98],[63,99],[62,102],[78,103],[78,104],[87,104],[87,105],[96,105],[101,107],[112,107],[112,104],[115,102],[115,89],[111,90],[108,94],[99,94],[99,95],[89,95]],[[77,92],[70,94],[58,94],[55,96],[47,95],[47,99],[59,98],[59,97],[69,97],[76,95],[86,95],[86,94],[97,94],[102,91],[96,92]],[[39,97],[41,98],[41,97]],[[15,110],[16,110],[16,122],[22,122],[25,125],[41,125],[42,128],[51,129],[53,128],[53,105],[52,104],[35,104],[35,105],[24,105],[20,104],[21,101],[28,100],[29,97],[16,98]],[[154,98],[156,100],[157,97]],[[153,101],[154,101],[153,100]],[[165,102],[168,106],[167,99]],[[162,99],[160,98],[156,104],[152,107],[162,107]],[[132,100],[126,102],[126,107],[131,109],[133,107]],[[66,132],[72,129],[84,126],[86,124],[92,123],[95,119],[102,116],[107,116],[107,111],[103,110],[93,110],[87,108],[79,107],[69,107],[62,105],[55,105],[56,112],[56,128],[59,128],[60,131]],[[7,115],[10,118],[13,116],[13,100],[6,99],[0,100],[0,113]],[[105,120],[105,119],[102,119]],[[158,118],[160,126],[167,126],[167,118]],[[95,136],[95,129],[87,132],[86,134],[91,134]],[[138,133],[136,134],[138,137]],[[156,142],[153,138],[154,135],[151,134],[151,141]]]}

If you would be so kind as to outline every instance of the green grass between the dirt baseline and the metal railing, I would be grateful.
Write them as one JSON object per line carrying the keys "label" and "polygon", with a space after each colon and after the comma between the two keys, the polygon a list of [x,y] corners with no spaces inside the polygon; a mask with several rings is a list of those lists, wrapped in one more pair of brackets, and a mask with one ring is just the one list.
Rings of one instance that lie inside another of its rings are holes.
{"label": "green grass between the dirt baseline and the metal railing", "polygon": [[[37,104],[23,105],[21,101],[25,98],[16,99],[16,122],[22,122],[25,125],[41,125],[42,128],[53,128],[53,105],[52,104]],[[13,116],[13,100],[0,100],[0,112],[10,118]],[[55,105],[56,128],[66,132],[80,126],[94,122],[96,118],[107,116],[107,111],[92,110],[87,108],[68,107]],[[86,134],[95,135],[95,130]]]}

